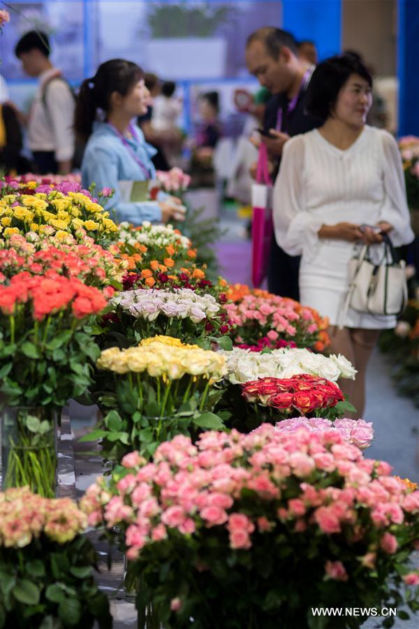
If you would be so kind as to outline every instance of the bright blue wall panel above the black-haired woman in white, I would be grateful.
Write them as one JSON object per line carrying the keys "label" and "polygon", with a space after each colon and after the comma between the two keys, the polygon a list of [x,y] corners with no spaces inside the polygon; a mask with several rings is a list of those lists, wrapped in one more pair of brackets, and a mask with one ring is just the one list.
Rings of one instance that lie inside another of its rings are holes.
{"label": "bright blue wall panel above the black-haired woman in white", "polygon": [[284,29],[316,43],[319,59],[341,50],[341,0],[282,0]]}

